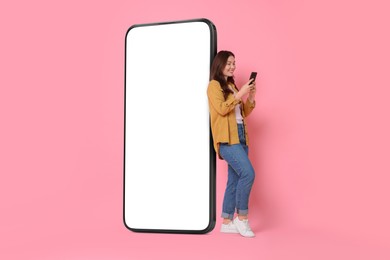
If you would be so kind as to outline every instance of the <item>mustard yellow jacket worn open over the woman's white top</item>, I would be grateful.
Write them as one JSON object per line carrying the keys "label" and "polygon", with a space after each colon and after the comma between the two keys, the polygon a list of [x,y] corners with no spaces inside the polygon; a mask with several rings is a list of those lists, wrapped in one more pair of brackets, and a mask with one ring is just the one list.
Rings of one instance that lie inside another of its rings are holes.
{"label": "mustard yellow jacket worn open over the woman's white top", "polygon": [[[237,91],[236,86],[233,86]],[[207,96],[209,100],[211,132],[213,134],[214,149],[219,154],[219,143],[239,144],[237,121],[235,114],[235,106],[241,103],[241,115],[244,118],[245,139],[248,145],[248,131],[245,124],[247,117],[255,108],[255,102],[251,103],[247,100],[245,103],[242,100],[236,100],[233,94],[229,94],[224,98],[221,85],[216,80],[211,80],[207,88]]]}

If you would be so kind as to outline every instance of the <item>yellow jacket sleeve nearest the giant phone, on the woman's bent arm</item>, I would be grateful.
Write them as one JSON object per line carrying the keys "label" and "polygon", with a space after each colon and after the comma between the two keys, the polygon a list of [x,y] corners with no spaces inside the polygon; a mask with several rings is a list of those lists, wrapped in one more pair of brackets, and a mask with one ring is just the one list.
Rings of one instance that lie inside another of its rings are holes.
{"label": "yellow jacket sleeve nearest the giant phone, on the woman's bent arm", "polygon": [[238,103],[241,102],[240,100],[237,100],[234,95],[229,95],[225,100],[221,85],[215,80],[210,81],[207,88],[207,96],[211,106],[221,116],[227,115]]}

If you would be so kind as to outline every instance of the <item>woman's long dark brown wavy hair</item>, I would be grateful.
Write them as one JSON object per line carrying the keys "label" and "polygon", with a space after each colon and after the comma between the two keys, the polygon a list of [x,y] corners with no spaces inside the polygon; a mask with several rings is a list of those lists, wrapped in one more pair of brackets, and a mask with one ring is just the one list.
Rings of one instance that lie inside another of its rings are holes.
{"label": "woman's long dark brown wavy hair", "polygon": [[230,56],[234,56],[233,52],[231,51],[220,51],[215,56],[213,63],[211,64],[211,71],[210,71],[210,80],[216,80],[221,84],[223,96],[226,99],[229,93],[233,93],[233,91],[229,88],[229,83],[234,84],[234,78],[228,77],[227,80],[225,80],[225,76],[223,75],[223,70],[225,69],[227,60]]}

